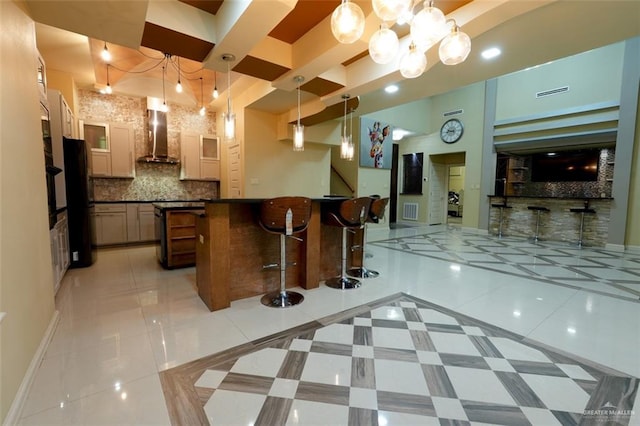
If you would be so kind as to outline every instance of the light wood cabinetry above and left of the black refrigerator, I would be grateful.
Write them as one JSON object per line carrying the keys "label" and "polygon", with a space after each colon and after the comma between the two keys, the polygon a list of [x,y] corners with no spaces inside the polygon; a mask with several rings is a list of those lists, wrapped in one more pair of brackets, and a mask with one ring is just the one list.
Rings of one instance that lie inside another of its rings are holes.
{"label": "light wood cabinetry above and left of the black refrigerator", "polygon": [[[62,138],[74,138],[76,135],[75,118],[69,104],[58,90],[47,91],[51,126],[51,149],[53,151],[53,165],[64,171],[64,150]],[[55,177],[56,208],[67,205],[65,175],[58,173]]]}

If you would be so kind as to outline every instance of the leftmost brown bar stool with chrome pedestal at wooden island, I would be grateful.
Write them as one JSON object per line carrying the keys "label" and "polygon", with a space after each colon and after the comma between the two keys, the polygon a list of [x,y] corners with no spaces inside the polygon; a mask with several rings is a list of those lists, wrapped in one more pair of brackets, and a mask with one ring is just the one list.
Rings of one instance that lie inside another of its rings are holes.
{"label": "leftmost brown bar stool with chrome pedestal at wooden island", "polygon": [[272,308],[286,308],[299,304],[304,296],[286,288],[287,237],[294,236],[309,226],[311,199],[306,197],[278,197],[264,200],[260,204],[260,226],[271,234],[280,235],[280,263],[263,266],[264,269],[280,267],[280,290],[265,294],[260,302]]}

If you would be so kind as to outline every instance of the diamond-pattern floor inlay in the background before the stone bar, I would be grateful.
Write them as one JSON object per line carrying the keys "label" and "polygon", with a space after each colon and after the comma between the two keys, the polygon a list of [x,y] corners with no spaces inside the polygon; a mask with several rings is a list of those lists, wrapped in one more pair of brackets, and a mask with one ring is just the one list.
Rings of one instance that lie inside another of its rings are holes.
{"label": "diamond-pattern floor inlay in the background before the stone bar", "polygon": [[557,242],[445,232],[370,244],[640,302],[640,255]]}

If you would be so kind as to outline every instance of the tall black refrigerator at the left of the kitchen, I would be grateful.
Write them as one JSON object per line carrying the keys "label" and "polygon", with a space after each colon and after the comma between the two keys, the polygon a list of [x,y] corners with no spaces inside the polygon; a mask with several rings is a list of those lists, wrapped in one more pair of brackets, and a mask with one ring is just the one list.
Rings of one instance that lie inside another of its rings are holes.
{"label": "tall black refrigerator at the left of the kitchen", "polygon": [[80,139],[62,138],[67,189],[71,268],[91,266],[96,260],[91,152]]}

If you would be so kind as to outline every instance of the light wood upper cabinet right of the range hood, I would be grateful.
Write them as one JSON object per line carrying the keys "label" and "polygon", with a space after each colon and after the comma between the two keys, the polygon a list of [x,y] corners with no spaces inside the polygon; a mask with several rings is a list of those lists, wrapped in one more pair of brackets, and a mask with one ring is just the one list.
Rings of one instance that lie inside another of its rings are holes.
{"label": "light wood upper cabinet right of the range hood", "polygon": [[220,140],[212,135],[180,133],[180,179],[220,180]]}

